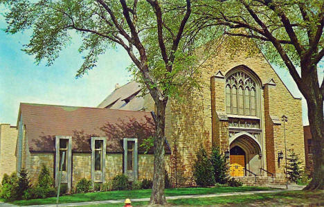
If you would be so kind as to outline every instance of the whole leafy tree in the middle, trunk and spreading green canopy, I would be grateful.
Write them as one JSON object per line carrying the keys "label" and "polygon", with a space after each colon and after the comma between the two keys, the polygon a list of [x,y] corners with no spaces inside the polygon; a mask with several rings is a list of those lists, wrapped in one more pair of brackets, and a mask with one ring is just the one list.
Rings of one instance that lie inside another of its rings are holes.
{"label": "whole leafy tree in the middle, trunk and spreading green canopy", "polygon": [[28,1],[0,0],[9,12],[7,33],[33,30],[24,51],[48,65],[71,38],[82,35],[80,52],[87,53],[77,72],[81,77],[96,66],[98,56],[109,47],[121,46],[134,63],[130,69],[141,80],[156,105],[154,178],[150,204],[165,204],[164,148],[165,107],[169,97],[197,87],[192,67],[195,58],[179,51],[190,30],[191,2],[186,1]]}

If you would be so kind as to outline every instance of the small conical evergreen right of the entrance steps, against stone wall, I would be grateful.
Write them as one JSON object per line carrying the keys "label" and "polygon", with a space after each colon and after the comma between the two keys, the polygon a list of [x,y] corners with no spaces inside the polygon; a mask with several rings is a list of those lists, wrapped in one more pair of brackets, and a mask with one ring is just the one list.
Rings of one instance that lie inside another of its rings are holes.
{"label": "small conical evergreen right of the entrance steps, against stone wall", "polygon": [[301,162],[294,150],[289,150],[289,156],[287,159],[288,179],[291,182],[297,183],[297,180],[300,179],[303,174],[303,170],[300,168]]}

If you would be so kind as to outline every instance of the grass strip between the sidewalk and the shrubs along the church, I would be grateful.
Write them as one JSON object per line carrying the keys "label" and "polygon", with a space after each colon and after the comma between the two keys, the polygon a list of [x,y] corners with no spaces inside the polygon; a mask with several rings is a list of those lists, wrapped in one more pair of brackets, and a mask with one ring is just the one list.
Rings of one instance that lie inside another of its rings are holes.
{"label": "grass strip between the sidewalk and the shrubs along the church", "polygon": [[[166,196],[176,196],[176,195],[199,195],[199,194],[214,194],[223,192],[243,192],[243,191],[257,191],[257,190],[273,190],[273,188],[266,187],[253,187],[253,186],[243,186],[243,187],[215,187],[215,188],[170,188],[165,189]],[[105,201],[105,200],[118,200],[125,198],[149,198],[151,195],[151,190],[116,190],[108,192],[88,192],[73,195],[66,195],[60,197],[60,203],[77,203],[84,201]],[[42,204],[55,204],[56,197],[48,197],[46,199],[30,199],[30,200],[20,200],[11,201],[11,204],[16,204],[19,206],[27,205],[42,205]]]}

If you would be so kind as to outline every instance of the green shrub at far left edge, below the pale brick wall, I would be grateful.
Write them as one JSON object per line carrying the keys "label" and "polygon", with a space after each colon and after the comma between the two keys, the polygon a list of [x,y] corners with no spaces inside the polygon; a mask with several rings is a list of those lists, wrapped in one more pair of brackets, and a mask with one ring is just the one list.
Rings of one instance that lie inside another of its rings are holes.
{"label": "green shrub at far left edge, below the pale brick wall", "polygon": [[12,172],[10,177],[3,179],[3,185],[0,192],[0,197],[6,201],[15,200],[19,197],[18,192],[18,177],[16,172]]}

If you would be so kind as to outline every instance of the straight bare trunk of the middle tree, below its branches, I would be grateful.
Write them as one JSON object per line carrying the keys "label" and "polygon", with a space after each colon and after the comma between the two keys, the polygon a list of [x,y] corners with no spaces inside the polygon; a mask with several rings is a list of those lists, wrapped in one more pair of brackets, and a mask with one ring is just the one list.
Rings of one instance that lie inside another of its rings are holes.
{"label": "straight bare trunk of the middle tree, below its branches", "polygon": [[165,143],[165,108],[168,99],[156,104],[156,138],[154,139],[154,173],[153,188],[150,199],[151,205],[165,205],[164,195],[164,177],[165,177],[165,160],[164,160],[164,143]]}

